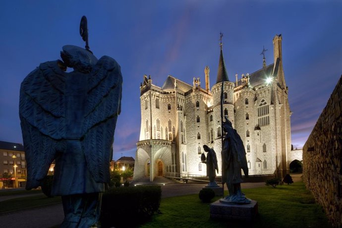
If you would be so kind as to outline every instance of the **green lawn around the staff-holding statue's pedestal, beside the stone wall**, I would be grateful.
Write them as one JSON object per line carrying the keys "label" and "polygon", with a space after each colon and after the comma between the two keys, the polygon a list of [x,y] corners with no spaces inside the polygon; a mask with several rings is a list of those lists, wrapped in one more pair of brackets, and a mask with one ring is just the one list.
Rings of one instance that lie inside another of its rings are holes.
{"label": "green lawn around the staff-holding statue's pedestal, beside the stone wall", "polygon": [[[329,228],[322,208],[315,203],[303,182],[273,188],[243,189],[250,199],[258,201],[259,215],[252,223],[225,222],[210,219],[210,204],[202,203],[197,194],[162,199],[160,211],[144,228]],[[227,192],[225,192],[227,195]],[[218,200],[216,197],[212,202]]]}

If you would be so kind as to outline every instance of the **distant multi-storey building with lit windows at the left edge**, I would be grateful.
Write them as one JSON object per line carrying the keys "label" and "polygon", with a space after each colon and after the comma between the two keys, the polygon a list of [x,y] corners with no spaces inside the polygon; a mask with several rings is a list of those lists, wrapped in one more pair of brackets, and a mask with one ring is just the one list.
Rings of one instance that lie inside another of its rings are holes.
{"label": "distant multi-storey building with lit windows at the left edge", "polygon": [[[16,166],[14,168],[14,166]],[[14,173],[16,171],[16,173]],[[24,187],[26,182],[26,161],[24,146],[19,143],[11,143],[0,141],[0,178],[3,178],[3,173],[6,172],[16,177],[14,185],[17,187]],[[0,188],[3,187],[3,182],[0,181]]]}

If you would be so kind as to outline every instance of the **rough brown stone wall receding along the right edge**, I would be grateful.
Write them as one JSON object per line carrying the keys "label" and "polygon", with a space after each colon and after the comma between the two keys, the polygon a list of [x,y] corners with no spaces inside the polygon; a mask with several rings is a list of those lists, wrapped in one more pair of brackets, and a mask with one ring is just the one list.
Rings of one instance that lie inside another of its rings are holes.
{"label": "rough brown stone wall receding along the right edge", "polygon": [[303,147],[303,180],[334,227],[342,226],[342,77]]}

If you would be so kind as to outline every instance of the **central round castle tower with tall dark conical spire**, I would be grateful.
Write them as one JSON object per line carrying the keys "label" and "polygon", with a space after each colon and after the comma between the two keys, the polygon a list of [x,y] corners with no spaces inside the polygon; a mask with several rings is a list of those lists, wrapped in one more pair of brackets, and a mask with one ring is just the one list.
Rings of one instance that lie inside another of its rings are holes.
{"label": "central round castle tower with tall dark conical spire", "polygon": [[[234,127],[234,105],[233,105],[233,90],[234,83],[230,82],[228,79],[228,74],[226,70],[226,64],[223,57],[222,43],[220,44],[220,58],[219,67],[217,72],[216,84],[212,87],[213,93],[213,121],[214,121],[214,150],[217,151],[217,157],[219,163],[221,163],[221,151],[222,151],[222,119],[221,112],[223,115],[227,114],[229,120]],[[222,90],[223,88],[223,90]],[[223,108],[221,111],[221,99],[223,99]],[[221,167],[221,164],[219,164]]]}

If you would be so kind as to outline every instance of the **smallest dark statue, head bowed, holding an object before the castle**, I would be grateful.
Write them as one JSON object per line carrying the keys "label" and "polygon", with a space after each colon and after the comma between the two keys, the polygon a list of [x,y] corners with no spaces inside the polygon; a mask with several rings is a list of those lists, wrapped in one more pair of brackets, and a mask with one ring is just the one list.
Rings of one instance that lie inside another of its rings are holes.
{"label": "smallest dark statue, head bowed, holding an object before the castle", "polygon": [[207,152],[207,158],[205,161],[206,165],[207,165],[207,176],[209,176],[209,183],[208,183],[208,187],[219,187],[219,185],[217,184],[215,177],[216,177],[216,172],[219,173],[219,166],[217,164],[217,157],[216,157],[216,153],[213,149],[209,148],[207,145],[203,145],[203,149],[205,152]]}

